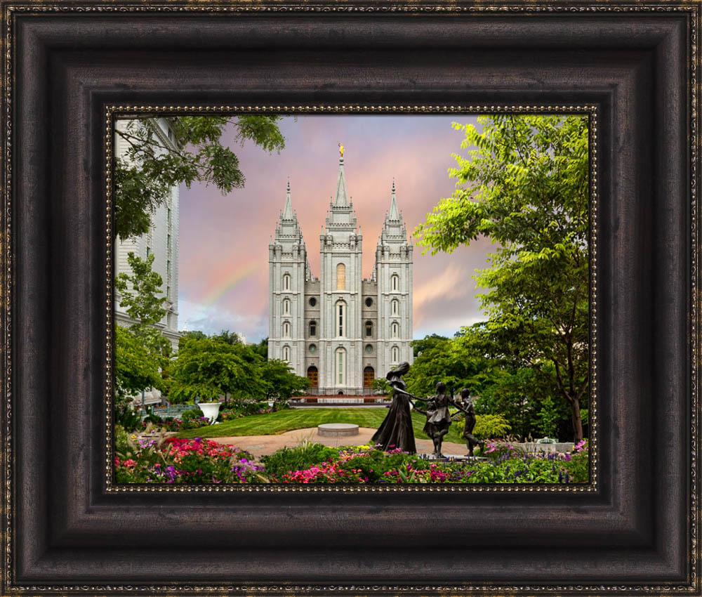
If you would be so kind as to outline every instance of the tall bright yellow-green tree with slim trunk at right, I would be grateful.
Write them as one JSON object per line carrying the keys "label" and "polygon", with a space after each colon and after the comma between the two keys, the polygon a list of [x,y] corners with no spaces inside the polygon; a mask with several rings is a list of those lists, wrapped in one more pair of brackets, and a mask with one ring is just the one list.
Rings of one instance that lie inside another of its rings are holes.
{"label": "tall bright yellow-green tree with slim trunk at right", "polygon": [[456,191],[416,234],[425,251],[453,251],[478,237],[498,248],[477,275],[494,336],[491,356],[515,368],[552,363],[556,390],[583,436],[588,389],[588,119],[584,116],[480,117],[454,155]]}

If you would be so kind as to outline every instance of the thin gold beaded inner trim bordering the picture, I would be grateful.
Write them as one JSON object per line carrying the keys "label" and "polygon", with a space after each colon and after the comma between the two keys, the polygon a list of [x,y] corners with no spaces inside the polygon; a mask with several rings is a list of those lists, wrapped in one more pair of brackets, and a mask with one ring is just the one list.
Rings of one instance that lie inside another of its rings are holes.
{"label": "thin gold beaded inner trim bordering the picture", "polygon": [[[511,105],[511,106],[395,106],[395,105],[341,105],[341,106],[109,106],[105,114],[105,200],[107,211],[105,218],[105,255],[107,256],[107,280],[114,278],[114,234],[112,232],[113,183],[114,180],[114,125],[119,119],[140,117],[145,114],[158,116],[173,116],[177,114],[586,114],[588,116],[588,150],[590,153],[590,298],[589,304],[593,312],[597,310],[597,106],[596,105]],[[114,317],[114,287],[105,287],[105,318],[107,321]],[[223,484],[223,485],[186,485],[185,487],[153,484],[140,485],[117,484],[114,479],[114,453],[112,409],[114,395],[114,374],[112,366],[113,338],[112,327],[107,327],[107,342],[105,343],[105,485],[110,492],[441,492],[443,487],[426,485],[419,488],[415,484],[405,485],[268,485],[258,484]],[[597,354],[597,320],[590,318],[590,355]],[[592,357],[591,357],[592,358]],[[595,360],[596,362],[596,360]],[[583,485],[553,485],[553,484],[494,484],[478,485],[470,483],[455,483],[449,485],[450,491],[468,492],[588,492],[597,491],[597,370],[594,362],[590,367],[590,437],[588,440],[590,452],[590,481]]]}

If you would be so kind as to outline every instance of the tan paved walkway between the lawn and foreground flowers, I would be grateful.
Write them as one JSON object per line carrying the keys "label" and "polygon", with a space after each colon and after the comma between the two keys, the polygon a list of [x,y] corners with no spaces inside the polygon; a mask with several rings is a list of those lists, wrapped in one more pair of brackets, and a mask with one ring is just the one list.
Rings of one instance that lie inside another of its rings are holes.
{"label": "tan paved walkway between the lawn and foreground flowers", "polygon": [[[308,427],[306,429],[296,429],[294,431],[286,431],[279,435],[234,435],[230,438],[208,438],[220,444],[234,445],[240,447],[246,452],[251,452],[256,458],[272,454],[282,447],[296,447],[303,441],[323,444],[325,446],[359,446],[366,445],[371,442],[375,429],[369,427],[359,427],[358,435],[348,435],[343,438],[326,438],[322,435],[317,435],[317,427]],[[434,451],[434,444],[431,440],[415,440],[417,452],[419,454],[431,454]],[[453,442],[444,442],[442,452],[444,454],[465,454],[467,448],[464,444],[456,444]]]}

